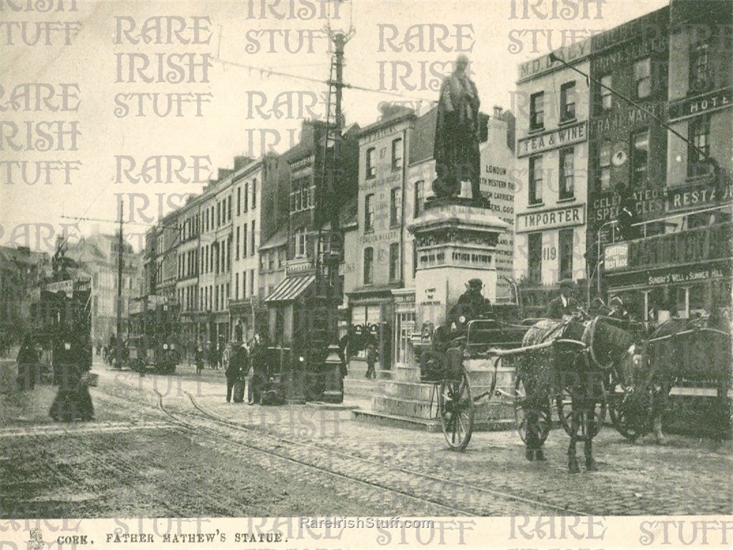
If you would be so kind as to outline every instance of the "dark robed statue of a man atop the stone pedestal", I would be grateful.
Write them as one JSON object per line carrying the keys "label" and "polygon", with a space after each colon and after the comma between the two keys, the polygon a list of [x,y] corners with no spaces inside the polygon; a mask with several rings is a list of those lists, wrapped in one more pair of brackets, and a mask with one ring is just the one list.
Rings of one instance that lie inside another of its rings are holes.
{"label": "dark robed statue of a man atop the stone pedestal", "polygon": [[468,78],[468,57],[461,54],[451,76],[443,80],[435,125],[435,172],[433,191],[438,197],[460,193],[462,181],[471,182],[471,198],[483,205],[479,191],[479,93]]}

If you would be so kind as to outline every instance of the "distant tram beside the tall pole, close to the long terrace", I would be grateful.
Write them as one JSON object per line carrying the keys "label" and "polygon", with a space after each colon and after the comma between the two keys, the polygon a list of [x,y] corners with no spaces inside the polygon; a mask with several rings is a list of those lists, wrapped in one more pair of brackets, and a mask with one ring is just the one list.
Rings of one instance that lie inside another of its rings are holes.
{"label": "distant tram beside the tall pole, close to the long terrace", "polygon": [[165,296],[130,302],[130,336],[125,362],[132,370],[172,374],[183,356],[178,337],[180,307]]}

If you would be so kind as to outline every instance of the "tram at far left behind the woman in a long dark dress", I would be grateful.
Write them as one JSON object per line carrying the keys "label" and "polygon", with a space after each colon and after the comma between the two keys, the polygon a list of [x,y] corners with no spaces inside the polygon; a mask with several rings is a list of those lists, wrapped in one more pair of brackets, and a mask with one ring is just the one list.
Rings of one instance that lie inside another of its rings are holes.
{"label": "tram at far left behind the woman in a long dark dress", "polygon": [[51,350],[54,384],[62,384],[70,364],[92,368],[91,297],[90,279],[67,279],[47,282],[31,305],[34,337]]}

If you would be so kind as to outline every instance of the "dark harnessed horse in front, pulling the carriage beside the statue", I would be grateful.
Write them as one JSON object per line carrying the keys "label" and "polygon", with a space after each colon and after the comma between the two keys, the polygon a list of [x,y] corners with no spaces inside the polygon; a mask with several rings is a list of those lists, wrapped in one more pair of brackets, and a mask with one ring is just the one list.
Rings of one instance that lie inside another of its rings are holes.
{"label": "dark harnessed horse in front, pulling the carriage beside the statue", "polygon": [[[570,435],[568,469],[578,473],[575,446],[583,441],[586,470],[597,469],[592,440],[605,416],[605,384],[614,366],[633,345],[633,334],[614,320],[597,316],[583,320],[540,320],[528,329],[519,360],[519,375],[528,398],[526,456],[544,461],[542,443],[550,426],[550,399],[555,397],[564,428]],[[570,397],[570,414],[564,417],[562,403]],[[600,406],[600,414],[596,414]],[[544,422],[544,426],[542,426]],[[545,430],[545,433],[542,433]]]}

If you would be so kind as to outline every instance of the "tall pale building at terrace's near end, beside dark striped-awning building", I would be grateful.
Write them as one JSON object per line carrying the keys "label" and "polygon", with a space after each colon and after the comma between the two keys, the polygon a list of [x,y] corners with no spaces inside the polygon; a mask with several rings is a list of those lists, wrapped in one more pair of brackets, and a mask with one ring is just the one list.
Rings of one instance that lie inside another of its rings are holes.
{"label": "tall pale building at terrace's near end, beside dark striped-awning building", "polygon": [[[262,257],[262,243],[276,230],[276,195],[279,159],[268,155],[250,161],[237,170],[232,179],[234,202],[232,249],[232,296],[229,310],[232,335],[236,340],[250,340],[262,331],[267,311],[262,307],[262,272],[269,268],[271,257]],[[282,193],[281,193],[282,194]]]}

